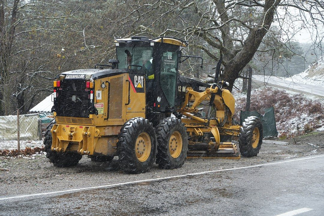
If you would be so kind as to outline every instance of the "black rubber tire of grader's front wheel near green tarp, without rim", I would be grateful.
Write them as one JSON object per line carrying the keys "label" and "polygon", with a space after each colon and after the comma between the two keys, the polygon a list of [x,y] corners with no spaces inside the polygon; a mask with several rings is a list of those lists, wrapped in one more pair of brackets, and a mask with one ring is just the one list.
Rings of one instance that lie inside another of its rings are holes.
{"label": "black rubber tire of grader's front wheel near green tarp, without rim", "polygon": [[[252,135],[255,128],[259,129],[260,137],[257,147],[253,148]],[[238,143],[241,155],[245,157],[257,156],[262,145],[262,138],[263,128],[260,118],[256,116],[249,116],[248,118],[246,118],[242,123],[240,132],[238,134]]]}

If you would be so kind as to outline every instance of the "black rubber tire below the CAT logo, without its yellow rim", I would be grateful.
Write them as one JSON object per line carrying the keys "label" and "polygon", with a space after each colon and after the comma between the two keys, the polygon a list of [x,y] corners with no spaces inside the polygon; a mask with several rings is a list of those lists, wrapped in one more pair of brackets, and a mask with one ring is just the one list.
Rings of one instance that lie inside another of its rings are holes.
{"label": "black rubber tire below the CAT logo, without its yellow rim", "polygon": [[[151,151],[144,162],[138,160],[135,152],[136,139],[142,132],[146,132],[151,139]],[[153,124],[140,117],[128,120],[118,136],[117,153],[124,172],[138,174],[149,171],[156,160],[156,134]]]}

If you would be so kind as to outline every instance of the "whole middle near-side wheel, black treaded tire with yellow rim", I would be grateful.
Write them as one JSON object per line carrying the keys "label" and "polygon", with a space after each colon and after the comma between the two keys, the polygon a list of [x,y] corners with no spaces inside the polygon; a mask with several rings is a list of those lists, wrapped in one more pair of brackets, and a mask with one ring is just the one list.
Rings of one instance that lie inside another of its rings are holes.
{"label": "whole middle near-side wheel, black treaded tire with yellow rim", "polygon": [[187,130],[180,119],[169,117],[156,127],[156,163],[160,168],[176,169],[184,164],[188,152]]}

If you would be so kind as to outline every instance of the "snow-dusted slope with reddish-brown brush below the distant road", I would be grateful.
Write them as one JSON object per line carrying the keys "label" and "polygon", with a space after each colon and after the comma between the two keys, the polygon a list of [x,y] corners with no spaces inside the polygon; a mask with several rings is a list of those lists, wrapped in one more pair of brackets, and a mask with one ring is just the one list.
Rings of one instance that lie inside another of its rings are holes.
{"label": "snow-dusted slope with reddish-brown brush below the distant road", "polygon": [[[241,83],[235,85],[241,88]],[[261,114],[264,108],[273,106],[279,136],[295,136],[312,130],[324,131],[324,100],[312,99],[309,94],[286,91],[278,87],[253,86],[251,91],[251,109]],[[236,120],[239,111],[245,110],[246,93],[232,91],[235,98]],[[320,97],[320,96],[318,96]]]}

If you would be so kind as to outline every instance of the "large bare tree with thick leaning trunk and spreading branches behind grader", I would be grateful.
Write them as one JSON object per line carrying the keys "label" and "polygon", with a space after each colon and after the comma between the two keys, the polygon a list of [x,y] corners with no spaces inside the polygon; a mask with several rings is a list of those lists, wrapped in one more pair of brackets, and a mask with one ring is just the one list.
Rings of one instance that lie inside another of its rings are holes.
{"label": "large bare tree with thick leaning trunk and spreading branches behind grader", "polygon": [[309,28],[317,42],[323,37],[317,26],[324,22],[324,3],[318,0],[125,0],[122,4],[125,11],[118,23],[137,25],[131,34],[184,37],[214,61],[222,56],[223,78],[230,90],[260,44],[269,42],[266,35],[280,41],[271,50],[289,43],[300,28]]}

